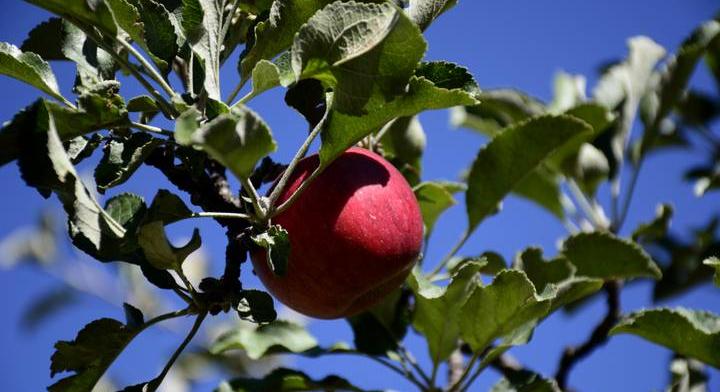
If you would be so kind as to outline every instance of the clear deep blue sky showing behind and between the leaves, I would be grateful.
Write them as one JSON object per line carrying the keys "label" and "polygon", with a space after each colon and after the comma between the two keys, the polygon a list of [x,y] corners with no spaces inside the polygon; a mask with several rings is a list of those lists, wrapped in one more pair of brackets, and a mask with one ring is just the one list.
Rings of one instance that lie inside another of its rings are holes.
{"label": "clear deep blue sky showing behind and between the leaves", "polygon": [[[20,1],[3,1],[0,12],[0,41],[19,45],[26,33],[48,15]],[[597,66],[626,53],[625,40],[633,35],[648,35],[674,51],[682,39],[701,21],[713,16],[716,0],[461,0],[460,5],[443,16],[427,32],[431,60],[449,60],[467,66],[481,87],[516,87],[542,99],[551,95],[552,77],[565,70],[588,76],[594,85]],[[53,64],[63,90],[70,95],[73,69],[68,64]],[[224,70],[229,91],[237,81],[235,64]],[[712,91],[713,84],[705,72],[694,78],[696,86]],[[140,94],[138,87],[126,83],[125,96]],[[9,120],[21,107],[31,103],[38,93],[18,82],[0,77],[0,121]],[[276,157],[287,160],[297,148],[306,129],[300,117],[282,105],[282,92],[274,91],[251,105],[270,123],[280,149]],[[421,116],[428,134],[424,160],[425,179],[453,179],[472,161],[484,139],[469,131],[452,130],[447,112]],[[687,232],[704,223],[711,212],[717,212],[717,195],[697,199],[691,184],[682,180],[683,169],[698,157],[688,152],[673,152],[648,161],[639,182],[626,227],[654,214],[655,206],[670,201],[676,207],[674,230]],[[89,167],[83,170],[89,172]],[[2,219],[0,236],[31,223],[42,209],[57,208],[55,198],[46,201],[24,186],[14,164],[0,168]],[[169,187],[153,169],[143,168],[123,190],[151,198],[157,187]],[[433,264],[454,243],[465,227],[462,205],[441,219],[435,229],[428,263]],[[199,224],[199,222],[192,222]],[[211,255],[213,269],[220,271],[224,255],[224,236],[212,222],[200,223],[204,245]],[[189,225],[178,225],[178,235],[187,235]],[[564,235],[562,226],[547,213],[525,201],[509,198],[498,216],[488,219],[473,235],[461,253],[474,255],[495,250],[506,258],[529,245],[539,245],[547,254],[556,252],[556,240]],[[63,253],[71,255],[64,249]],[[93,261],[84,259],[84,263]],[[108,267],[109,268],[109,267]],[[257,285],[245,268],[248,285]],[[32,268],[0,271],[0,389],[39,391],[51,383],[49,357],[58,339],[71,339],[87,322],[100,317],[122,318],[122,312],[95,299],[84,299],[41,330],[27,333],[18,320],[22,310],[37,295],[54,287],[56,282]],[[651,306],[651,285],[642,283],[624,291],[624,311]],[[701,286],[665,305],[704,308],[720,313],[720,290]],[[567,344],[585,339],[590,328],[604,313],[604,304],[595,301],[578,314],[558,314],[545,321],[533,341],[512,351],[524,364],[545,374],[553,374],[559,355]],[[340,321],[316,321],[311,330],[322,343],[351,341],[348,325]],[[125,385],[150,379],[156,374],[179,337],[168,332],[149,331],[133,344],[112,368],[112,374]],[[428,365],[425,347],[416,337],[409,346],[421,362]],[[590,359],[581,362],[572,373],[570,384],[582,391],[648,391],[660,390],[668,378],[669,351],[635,337],[615,337]],[[338,373],[366,388],[410,390],[410,385],[384,368],[367,361],[337,358],[306,360],[296,364],[313,376]],[[711,372],[711,389],[720,389],[720,373]],[[498,378],[492,371],[480,377],[473,390],[487,390]],[[198,390],[211,390],[217,380],[210,380]]]}

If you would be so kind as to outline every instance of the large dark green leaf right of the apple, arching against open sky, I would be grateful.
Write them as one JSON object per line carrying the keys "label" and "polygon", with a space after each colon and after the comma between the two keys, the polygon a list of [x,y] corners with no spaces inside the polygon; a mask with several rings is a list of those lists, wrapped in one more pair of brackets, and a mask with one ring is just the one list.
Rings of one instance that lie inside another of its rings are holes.
{"label": "large dark green leaf right of the apple, arching against open sky", "polygon": [[591,131],[587,123],[573,117],[544,116],[512,126],[492,139],[478,153],[468,177],[465,199],[470,230],[554,151]]}

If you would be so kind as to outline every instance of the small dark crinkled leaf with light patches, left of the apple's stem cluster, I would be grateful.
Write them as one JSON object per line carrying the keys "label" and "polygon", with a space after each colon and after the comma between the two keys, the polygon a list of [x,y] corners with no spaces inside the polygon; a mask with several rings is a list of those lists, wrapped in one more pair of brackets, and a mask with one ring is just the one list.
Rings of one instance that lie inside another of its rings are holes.
{"label": "small dark crinkled leaf with light patches, left of the apple's stem cluster", "polygon": [[104,193],[127,181],[160,144],[162,140],[143,132],[133,133],[122,141],[110,140],[95,168],[98,192]]}

